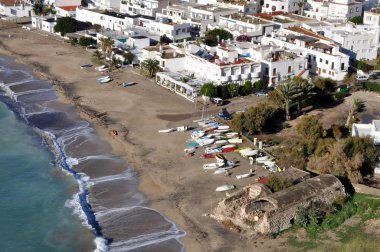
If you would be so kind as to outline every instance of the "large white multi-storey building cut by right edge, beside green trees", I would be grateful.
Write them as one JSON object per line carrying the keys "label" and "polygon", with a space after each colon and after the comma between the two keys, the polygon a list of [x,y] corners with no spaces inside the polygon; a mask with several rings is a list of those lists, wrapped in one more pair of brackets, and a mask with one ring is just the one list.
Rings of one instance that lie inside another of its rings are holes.
{"label": "large white multi-storey building cut by right edge, beside green trees", "polygon": [[342,51],[356,60],[374,60],[379,47],[379,28],[370,25],[351,25],[343,27],[327,26],[324,35],[339,43]]}

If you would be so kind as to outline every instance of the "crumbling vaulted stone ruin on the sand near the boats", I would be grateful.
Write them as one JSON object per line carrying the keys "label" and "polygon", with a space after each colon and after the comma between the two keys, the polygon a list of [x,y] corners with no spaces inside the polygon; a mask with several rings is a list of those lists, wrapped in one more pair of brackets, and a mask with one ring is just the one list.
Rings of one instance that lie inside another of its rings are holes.
{"label": "crumbling vaulted stone ruin on the sand near the boats", "polygon": [[331,174],[307,179],[282,191],[272,193],[256,183],[219,202],[211,217],[228,221],[247,234],[277,233],[291,227],[300,207],[312,202],[332,204],[345,196],[342,183]]}

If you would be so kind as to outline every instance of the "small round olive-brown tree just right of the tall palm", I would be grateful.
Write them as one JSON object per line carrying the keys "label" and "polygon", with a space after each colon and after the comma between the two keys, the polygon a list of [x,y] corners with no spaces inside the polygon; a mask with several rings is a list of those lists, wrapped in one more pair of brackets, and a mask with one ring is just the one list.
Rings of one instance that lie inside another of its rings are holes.
{"label": "small round olive-brown tree just right of the tall palm", "polygon": [[323,135],[323,128],[316,116],[304,116],[296,125],[297,133],[303,139],[318,140]]}

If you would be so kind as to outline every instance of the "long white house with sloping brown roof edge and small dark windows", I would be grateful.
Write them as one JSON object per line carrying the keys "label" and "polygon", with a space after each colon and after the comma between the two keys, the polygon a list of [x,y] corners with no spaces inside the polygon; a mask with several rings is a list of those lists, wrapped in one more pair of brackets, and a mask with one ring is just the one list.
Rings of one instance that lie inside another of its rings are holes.
{"label": "long white house with sloping brown roof edge and small dark windows", "polygon": [[274,44],[290,50],[301,50],[308,60],[307,69],[311,74],[337,81],[344,79],[349,66],[349,56],[340,52],[340,46],[322,35],[301,27],[288,27],[270,37],[263,37],[262,43]]}

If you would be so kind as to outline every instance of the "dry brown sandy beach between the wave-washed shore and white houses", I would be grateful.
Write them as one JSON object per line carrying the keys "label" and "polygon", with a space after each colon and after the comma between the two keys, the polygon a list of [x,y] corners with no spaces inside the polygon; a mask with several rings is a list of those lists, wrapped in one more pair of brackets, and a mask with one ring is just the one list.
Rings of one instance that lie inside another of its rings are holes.
{"label": "dry brown sandy beach between the wave-washed shore and white houses", "polygon": [[[111,144],[113,153],[136,171],[140,178],[139,189],[148,197],[149,206],[186,231],[181,240],[187,251],[290,251],[285,247],[285,238],[243,238],[208,217],[225,196],[215,192],[217,186],[230,183],[242,187],[252,183],[254,178],[235,179],[235,175],[252,168],[248,160],[242,160],[236,153],[227,154],[228,159],[240,161],[231,177],[205,173],[202,164],[209,161],[199,159],[201,150],[192,158],[184,157],[189,132],[158,133],[170,127],[196,126],[192,121],[201,116],[199,105],[157,86],[153,80],[131,69],[114,70],[110,73],[114,80],[99,85],[96,79],[101,77],[100,72],[93,68],[80,69],[80,65],[91,63],[90,52],[35,31],[0,30],[0,54],[16,58],[16,62],[31,67],[41,78],[56,84],[60,100],[74,104],[78,115],[91,122],[97,134]],[[125,81],[137,84],[123,88],[119,84]],[[240,110],[260,99],[237,98],[228,108]],[[219,110],[215,105],[210,107],[211,114]],[[119,135],[112,136],[112,129]],[[107,174],[102,170],[83,172],[90,177]],[[118,191],[122,188],[115,184],[109,190],[109,200],[121,200]],[[96,188],[90,193],[96,194]],[[96,209],[96,204],[92,205]],[[104,235],[122,237],[123,233],[105,229]]]}

